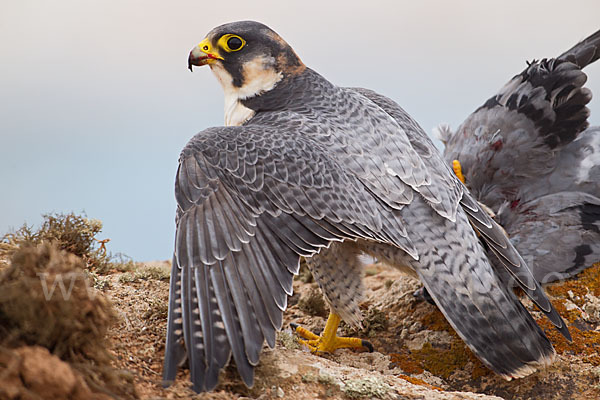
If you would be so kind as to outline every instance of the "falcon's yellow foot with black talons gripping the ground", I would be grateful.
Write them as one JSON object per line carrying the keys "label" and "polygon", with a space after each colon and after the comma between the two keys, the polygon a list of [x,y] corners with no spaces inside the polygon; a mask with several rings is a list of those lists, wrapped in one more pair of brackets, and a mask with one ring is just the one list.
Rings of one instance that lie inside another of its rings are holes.
{"label": "falcon's yellow foot with black talons gripping the ground", "polygon": [[373,345],[367,340],[359,338],[339,337],[336,335],[337,328],[340,324],[340,316],[334,313],[329,314],[325,330],[322,336],[317,336],[308,329],[305,329],[298,324],[291,323],[290,326],[298,335],[305,340],[299,340],[300,343],[307,346],[313,353],[333,353],[337,349],[342,348],[367,348],[369,352],[373,351]]}

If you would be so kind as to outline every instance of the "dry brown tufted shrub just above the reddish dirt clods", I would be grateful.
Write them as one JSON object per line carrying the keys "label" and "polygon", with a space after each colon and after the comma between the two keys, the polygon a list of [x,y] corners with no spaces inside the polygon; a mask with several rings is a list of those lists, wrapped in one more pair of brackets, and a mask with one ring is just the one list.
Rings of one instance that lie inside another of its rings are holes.
{"label": "dry brown tufted shrub just above the reddish dirt clods", "polygon": [[47,242],[25,245],[0,275],[0,347],[42,346],[94,392],[134,398],[131,377],[111,367],[111,304],[88,284],[83,260]]}

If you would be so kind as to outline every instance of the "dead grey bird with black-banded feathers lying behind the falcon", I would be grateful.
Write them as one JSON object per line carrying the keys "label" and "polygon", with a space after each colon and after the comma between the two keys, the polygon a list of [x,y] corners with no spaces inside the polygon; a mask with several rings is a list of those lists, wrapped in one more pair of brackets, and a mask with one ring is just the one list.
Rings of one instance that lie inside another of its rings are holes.
{"label": "dead grey bird with black-banded feathers lying behind the falcon", "polygon": [[540,282],[600,261],[600,128],[588,128],[582,71],[598,58],[600,31],[528,63],[456,132],[441,132],[444,158],[461,162]]}

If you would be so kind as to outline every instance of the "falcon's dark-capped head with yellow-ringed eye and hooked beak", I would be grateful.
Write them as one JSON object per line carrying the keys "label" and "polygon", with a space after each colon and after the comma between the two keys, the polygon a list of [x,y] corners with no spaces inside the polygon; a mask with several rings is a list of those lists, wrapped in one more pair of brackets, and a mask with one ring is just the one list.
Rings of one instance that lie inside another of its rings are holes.
{"label": "falcon's dark-capped head with yellow-ringed eye and hooked beak", "polygon": [[277,33],[254,21],[214,28],[190,52],[190,70],[194,65],[208,65],[225,94],[235,93],[240,100],[269,91],[306,68]]}

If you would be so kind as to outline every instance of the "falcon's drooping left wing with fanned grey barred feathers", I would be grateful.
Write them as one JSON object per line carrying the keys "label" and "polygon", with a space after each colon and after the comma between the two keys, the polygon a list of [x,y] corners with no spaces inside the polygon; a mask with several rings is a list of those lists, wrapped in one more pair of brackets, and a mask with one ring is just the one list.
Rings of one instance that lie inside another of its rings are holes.
{"label": "falcon's drooping left wing with fanned grey barred feathers", "polygon": [[182,152],[175,193],[164,380],[187,353],[196,391],[216,386],[231,355],[252,385],[263,343],[275,344],[300,256],[365,238],[416,257],[397,210],[327,149],[281,126],[196,135]]}

